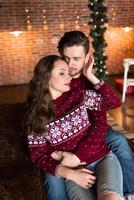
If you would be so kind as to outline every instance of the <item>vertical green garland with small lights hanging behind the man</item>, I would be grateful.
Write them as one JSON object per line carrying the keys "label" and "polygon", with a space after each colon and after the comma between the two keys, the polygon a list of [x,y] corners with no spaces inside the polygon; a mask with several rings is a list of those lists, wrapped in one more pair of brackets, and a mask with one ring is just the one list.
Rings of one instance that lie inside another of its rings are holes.
{"label": "vertical green garland with small lights hanging behind the man", "polygon": [[104,48],[107,43],[104,39],[104,33],[107,30],[106,23],[108,22],[106,12],[107,6],[104,0],[90,0],[90,21],[91,26],[90,36],[93,38],[92,46],[94,48],[94,67],[96,70],[96,76],[100,79],[106,79],[107,69],[105,61],[107,56],[104,53]]}

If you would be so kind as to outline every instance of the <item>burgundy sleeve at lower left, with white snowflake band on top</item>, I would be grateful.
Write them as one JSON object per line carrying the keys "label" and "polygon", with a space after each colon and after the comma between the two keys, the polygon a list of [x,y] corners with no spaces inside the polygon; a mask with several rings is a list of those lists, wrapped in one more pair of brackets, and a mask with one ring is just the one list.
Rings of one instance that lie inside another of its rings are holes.
{"label": "burgundy sleeve at lower left, with white snowflake band on top", "polygon": [[43,136],[29,135],[28,148],[33,163],[42,171],[55,175],[59,162],[51,158],[50,155],[54,148],[46,144],[45,138]]}

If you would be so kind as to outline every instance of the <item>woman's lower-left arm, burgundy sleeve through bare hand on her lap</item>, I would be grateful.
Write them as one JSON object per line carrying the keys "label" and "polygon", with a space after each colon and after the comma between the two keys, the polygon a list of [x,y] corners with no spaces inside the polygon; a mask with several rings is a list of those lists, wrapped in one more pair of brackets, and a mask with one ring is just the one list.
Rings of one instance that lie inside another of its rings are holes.
{"label": "woman's lower-left arm, burgundy sleeve through bare hand on her lap", "polygon": [[53,149],[45,144],[37,144],[37,137],[30,137],[32,137],[33,142],[36,141],[36,144],[31,144],[30,138],[28,138],[30,156],[32,161],[41,170],[47,171],[52,175],[72,180],[84,188],[89,188],[95,183],[96,177],[93,175],[92,171],[86,169],[71,169],[69,167],[62,166],[58,161],[50,157],[52,151],[54,151]]}

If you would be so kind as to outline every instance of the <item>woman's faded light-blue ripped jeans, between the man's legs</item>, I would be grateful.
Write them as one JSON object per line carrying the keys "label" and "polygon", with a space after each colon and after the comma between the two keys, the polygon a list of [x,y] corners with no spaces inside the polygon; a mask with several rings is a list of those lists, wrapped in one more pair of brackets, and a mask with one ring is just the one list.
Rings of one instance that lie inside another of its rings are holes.
{"label": "woman's faded light-blue ripped jeans, between the man's legs", "polygon": [[95,200],[109,193],[117,193],[120,199],[123,199],[122,170],[117,157],[112,152],[102,159],[86,166],[86,168],[93,170],[97,177],[97,197],[94,193],[92,194],[94,192],[93,188],[91,190],[84,189],[73,181],[66,180],[65,183],[69,200]]}

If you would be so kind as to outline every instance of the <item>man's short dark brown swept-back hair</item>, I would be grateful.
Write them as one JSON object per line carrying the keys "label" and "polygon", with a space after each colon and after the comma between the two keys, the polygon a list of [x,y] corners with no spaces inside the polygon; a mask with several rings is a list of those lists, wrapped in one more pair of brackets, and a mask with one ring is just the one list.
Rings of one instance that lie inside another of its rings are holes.
{"label": "man's short dark brown swept-back hair", "polygon": [[83,46],[85,54],[89,52],[89,40],[81,31],[65,32],[58,43],[58,51],[62,55],[65,47]]}

